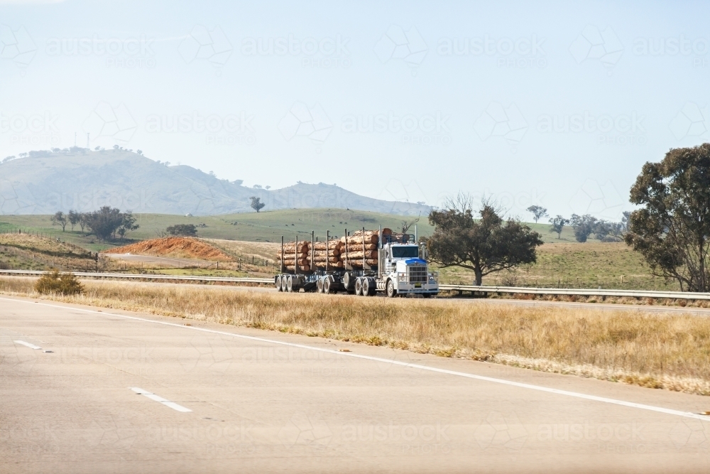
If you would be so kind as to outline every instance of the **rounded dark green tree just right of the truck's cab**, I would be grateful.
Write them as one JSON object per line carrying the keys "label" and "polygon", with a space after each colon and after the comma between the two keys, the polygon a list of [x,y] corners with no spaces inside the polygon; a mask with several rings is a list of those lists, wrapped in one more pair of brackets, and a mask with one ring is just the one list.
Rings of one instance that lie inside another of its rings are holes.
{"label": "rounded dark green tree just right of the truck's cab", "polygon": [[425,240],[432,262],[473,270],[476,285],[493,272],[535,263],[540,234],[518,220],[503,221],[498,212],[484,201],[476,219],[471,198],[464,194],[432,210],[429,222],[435,231]]}

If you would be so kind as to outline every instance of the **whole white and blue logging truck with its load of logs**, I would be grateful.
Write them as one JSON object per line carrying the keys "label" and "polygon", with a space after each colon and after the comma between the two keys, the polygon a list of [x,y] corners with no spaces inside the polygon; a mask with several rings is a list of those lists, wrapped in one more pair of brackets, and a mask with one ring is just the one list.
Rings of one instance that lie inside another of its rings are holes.
{"label": "whole white and blue logging truck with its load of logs", "polygon": [[[427,248],[417,242],[417,232],[393,234],[388,229],[364,228],[342,239],[284,244],[277,255],[280,272],[274,276],[278,291],[317,291],[375,296],[421,295],[439,293],[438,274],[427,266]],[[376,237],[375,237],[376,236]]]}

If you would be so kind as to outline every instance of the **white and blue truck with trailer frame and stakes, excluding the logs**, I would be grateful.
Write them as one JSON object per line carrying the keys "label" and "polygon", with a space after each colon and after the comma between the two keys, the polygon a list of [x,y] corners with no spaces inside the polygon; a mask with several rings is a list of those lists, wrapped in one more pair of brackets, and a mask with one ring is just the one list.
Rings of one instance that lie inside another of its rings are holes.
{"label": "white and blue truck with trailer frame and stakes, excluding the logs", "polygon": [[[416,227],[415,227],[416,229]],[[365,229],[362,235],[365,235]],[[348,235],[345,230],[345,235]],[[345,237],[348,239],[348,237]],[[358,259],[357,265],[351,263],[346,257],[343,268],[330,266],[327,262],[321,268],[314,264],[315,239],[314,232],[311,232],[310,245],[310,269],[301,270],[297,264],[293,269],[286,269],[285,258],[293,258],[298,261],[298,250],[296,239],[295,253],[293,256],[284,253],[283,237],[281,237],[281,258],[280,272],[274,277],[274,286],[278,291],[297,292],[301,289],[305,292],[318,293],[349,293],[357,296],[375,296],[377,293],[384,293],[389,298],[395,296],[421,295],[430,298],[439,294],[438,274],[430,272],[427,267],[427,248],[424,244],[417,243],[415,235],[410,234],[388,234],[382,235],[378,230],[377,239],[377,260],[372,264],[372,259],[366,259],[365,243],[361,248],[358,244],[353,244],[348,249],[345,246],[345,255],[361,250],[362,258]],[[326,242],[330,240],[328,232]],[[370,263],[368,263],[370,262]]]}

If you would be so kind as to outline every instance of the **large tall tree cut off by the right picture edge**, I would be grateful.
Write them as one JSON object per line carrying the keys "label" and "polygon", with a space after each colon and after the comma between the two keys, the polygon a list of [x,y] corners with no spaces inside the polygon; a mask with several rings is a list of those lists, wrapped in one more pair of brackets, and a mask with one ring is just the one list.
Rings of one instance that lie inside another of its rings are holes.
{"label": "large tall tree cut off by the right picture edge", "polygon": [[710,291],[710,144],[645,163],[630,201],[643,208],[630,214],[624,241],[655,275],[683,291]]}

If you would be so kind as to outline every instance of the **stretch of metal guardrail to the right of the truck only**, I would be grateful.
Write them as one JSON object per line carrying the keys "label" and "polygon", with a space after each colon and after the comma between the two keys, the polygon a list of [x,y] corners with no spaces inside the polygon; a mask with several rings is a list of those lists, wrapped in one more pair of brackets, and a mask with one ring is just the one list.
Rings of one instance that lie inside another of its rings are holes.
{"label": "stretch of metal guardrail to the right of the truck only", "polygon": [[532,295],[569,296],[628,296],[630,298],[674,298],[687,300],[710,300],[710,293],[689,293],[687,291],[645,291],[645,290],[601,290],[576,288],[526,288],[524,286],[468,286],[439,285],[442,291],[471,291],[481,293],[518,293]]}

